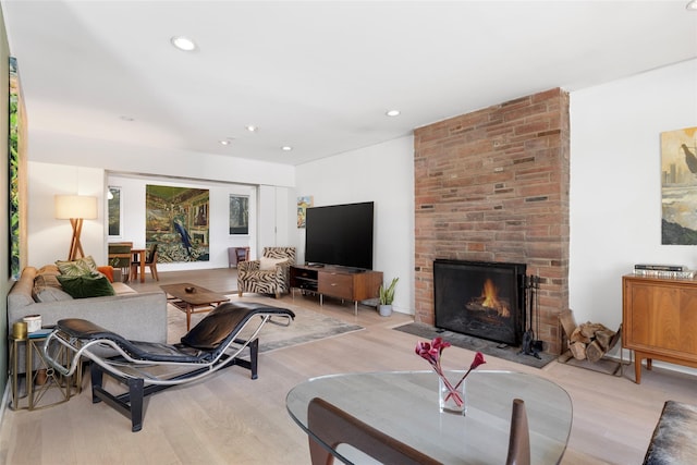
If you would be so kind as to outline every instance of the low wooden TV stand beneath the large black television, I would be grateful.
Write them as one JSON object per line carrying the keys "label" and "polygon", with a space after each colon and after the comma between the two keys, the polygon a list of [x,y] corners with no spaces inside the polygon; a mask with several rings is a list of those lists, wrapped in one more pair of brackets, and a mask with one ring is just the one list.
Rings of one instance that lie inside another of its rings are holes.
{"label": "low wooden TV stand beneath the large black television", "polygon": [[323,295],[354,302],[354,313],[358,315],[358,302],[376,298],[382,284],[382,271],[356,270],[355,268],[294,265],[291,267],[291,290],[319,294],[319,305]]}

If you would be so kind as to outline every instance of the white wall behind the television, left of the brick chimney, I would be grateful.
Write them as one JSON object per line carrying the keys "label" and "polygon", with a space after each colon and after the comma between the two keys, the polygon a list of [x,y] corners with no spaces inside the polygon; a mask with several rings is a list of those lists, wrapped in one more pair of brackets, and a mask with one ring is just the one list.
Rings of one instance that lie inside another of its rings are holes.
{"label": "white wall behind the television, left of the brick chimney", "polygon": [[[375,203],[374,269],[400,278],[394,310],[414,313],[414,139],[402,137],[297,167],[296,197],[321,207]],[[297,229],[298,262],[305,230]]]}

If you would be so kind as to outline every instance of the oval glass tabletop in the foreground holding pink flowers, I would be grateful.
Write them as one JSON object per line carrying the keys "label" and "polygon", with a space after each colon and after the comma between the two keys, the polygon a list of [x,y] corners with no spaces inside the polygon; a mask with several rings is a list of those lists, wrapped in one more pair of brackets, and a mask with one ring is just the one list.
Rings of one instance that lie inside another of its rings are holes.
{"label": "oval glass tabletop in the foreground holding pink flowers", "polygon": [[[449,379],[463,372],[449,371]],[[505,463],[513,399],[525,401],[534,464],[557,464],[566,450],[572,402],[558,384],[528,374],[477,370],[466,380],[467,414],[441,413],[433,371],[330,375],[293,388],[285,399],[291,417],[307,426],[311,399],[323,399],[359,420],[444,464]],[[320,442],[321,443],[321,442]],[[348,446],[331,450],[345,463],[359,461]],[[345,448],[345,449],[342,449]],[[364,456],[365,457],[365,456]]]}

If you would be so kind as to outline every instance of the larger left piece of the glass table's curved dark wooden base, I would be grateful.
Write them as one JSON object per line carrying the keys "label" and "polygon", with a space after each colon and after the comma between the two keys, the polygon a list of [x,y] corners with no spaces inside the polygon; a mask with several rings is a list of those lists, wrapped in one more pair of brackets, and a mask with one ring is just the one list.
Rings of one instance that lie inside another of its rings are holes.
{"label": "larger left piece of the glass table's curved dark wooden base", "polygon": [[[338,406],[315,397],[307,406],[307,427],[325,444],[352,445],[383,464],[436,465],[440,462],[360,421]],[[313,465],[330,465],[334,456],[309,436]]]}

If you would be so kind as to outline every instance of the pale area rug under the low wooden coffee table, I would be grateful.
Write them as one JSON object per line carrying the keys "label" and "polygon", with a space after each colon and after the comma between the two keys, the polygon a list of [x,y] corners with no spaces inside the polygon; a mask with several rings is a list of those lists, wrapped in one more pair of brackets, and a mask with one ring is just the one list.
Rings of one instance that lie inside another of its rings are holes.
{"label": "pale area rug under the low wooden coffee table", "polygon": [[[333,338],[364,329],[358,325],[347,323],[337,318],[308,310],[297,305],[279,303],[267,297],[239,297],[228,295],[230,302],[257,302],[273,307],[292,310],[295,319],[289,327],[265,325],[259,334],[259,352],[271,352],[293,345],[305,344],[320,339]],[[171,304],[167,305],[168,342],[176,343],[186,333],[186,314]],[[207,313],[192,315],[192,328],[200,321]],[[241,334],[244,338],[244,334]]]}

